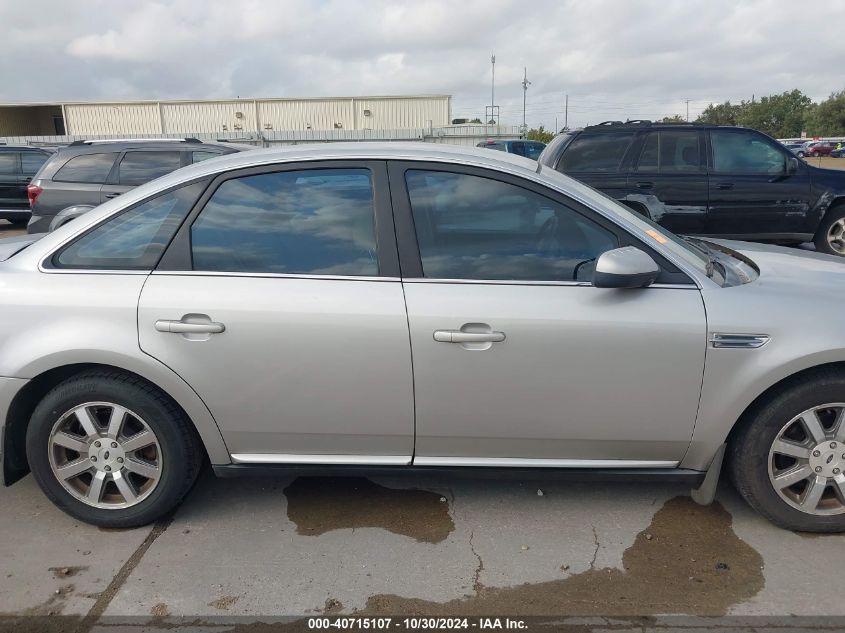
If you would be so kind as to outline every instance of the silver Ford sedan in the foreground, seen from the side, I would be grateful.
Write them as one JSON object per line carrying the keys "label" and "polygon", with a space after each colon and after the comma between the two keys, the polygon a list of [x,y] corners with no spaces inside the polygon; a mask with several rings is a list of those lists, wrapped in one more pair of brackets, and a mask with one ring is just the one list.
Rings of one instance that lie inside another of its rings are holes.
{"label": "silver Ford sedan in the foreground, seen from the side", "polygon": [[778,525],[845,530],[842,262],[681,239],[525,158],[244,152],[0,259],[4,481],[83,521],[163,516],[206,459],[575,469],[707,503],[724,456]]}

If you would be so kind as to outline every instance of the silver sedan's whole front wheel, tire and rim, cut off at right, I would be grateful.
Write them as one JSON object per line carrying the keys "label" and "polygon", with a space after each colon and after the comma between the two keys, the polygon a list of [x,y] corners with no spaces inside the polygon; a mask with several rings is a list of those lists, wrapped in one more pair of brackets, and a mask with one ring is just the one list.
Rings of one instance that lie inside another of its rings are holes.
{"label": "silver sedan's whole front wheel, tire and rim, cut off at right", "polygon": [[728,464],[739,493],[776,525],[845,531],[845,374],[816,372],[757,407]]}

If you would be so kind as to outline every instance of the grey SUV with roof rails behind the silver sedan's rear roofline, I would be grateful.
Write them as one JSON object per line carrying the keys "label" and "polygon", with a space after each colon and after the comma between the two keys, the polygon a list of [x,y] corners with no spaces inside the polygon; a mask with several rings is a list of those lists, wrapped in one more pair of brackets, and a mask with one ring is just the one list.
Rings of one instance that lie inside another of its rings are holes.
{"label": "grey SUV with roof rails behind the silver sedan's rear roofline", "polygon": [[52,231],[98,204],[185,165],[249,146],[186,139],[74,141],[27,187],[29,233]]}

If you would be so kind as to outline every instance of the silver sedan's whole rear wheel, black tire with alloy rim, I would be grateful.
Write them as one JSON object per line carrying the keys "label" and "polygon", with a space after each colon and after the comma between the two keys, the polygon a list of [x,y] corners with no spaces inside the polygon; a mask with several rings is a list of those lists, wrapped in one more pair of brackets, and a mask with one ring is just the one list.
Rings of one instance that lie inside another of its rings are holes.
{"label": "silver sedan's whole rear wheel, black tire with alloy rim", "polygon": [[[86,433],[86,417],[96,433]],[[107,433],[113,420],[120,420],[118,432]],[[100,527],[132,528],[176,507],[196,481],[204,452],[190,421],[163,393],[129,374],[93,370],[38,403],[26,454],[38,485],[61,510]],[[79,475],[57,474],[89,461],[97,463]]]}

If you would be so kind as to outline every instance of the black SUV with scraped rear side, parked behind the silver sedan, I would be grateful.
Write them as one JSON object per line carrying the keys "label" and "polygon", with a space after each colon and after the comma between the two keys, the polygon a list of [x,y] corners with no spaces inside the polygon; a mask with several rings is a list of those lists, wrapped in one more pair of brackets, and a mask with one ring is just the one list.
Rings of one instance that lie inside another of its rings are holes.
{"label": "black SUV with scraped rear side, parked behind the silver sedan", "polygon": [[801,243],[845,255],[845,171],[757,130],[608,121],[556,136],[539,162],[675,233]]}

